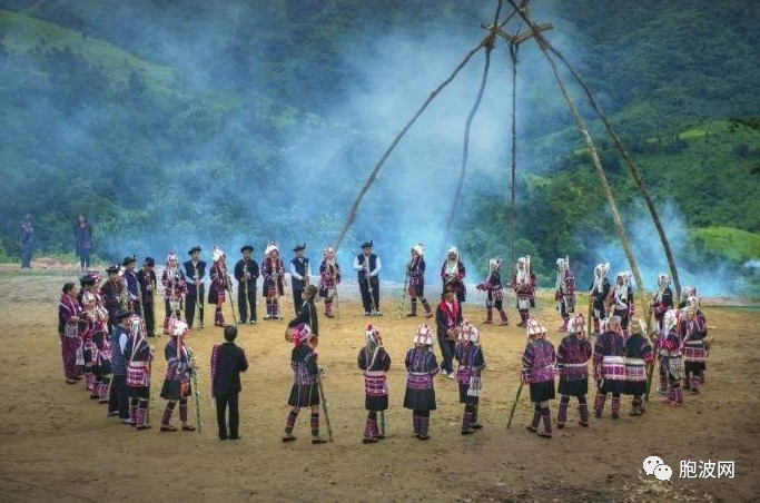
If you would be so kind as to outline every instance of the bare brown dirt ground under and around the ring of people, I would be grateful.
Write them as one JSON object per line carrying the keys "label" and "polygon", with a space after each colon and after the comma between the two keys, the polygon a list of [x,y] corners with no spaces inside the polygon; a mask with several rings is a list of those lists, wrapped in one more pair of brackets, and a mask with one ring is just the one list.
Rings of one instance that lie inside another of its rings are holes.
{"label": "bare brown dirt ground under and around the ring of people", "polygon": [[[259,320],[240,327],[237,342],[250,362],[240,395],[241,441],[220,442],[216,436],[208,392],[210,348],[221,341],[221,331],[215,327],[194,331],[189,338],[201,363],[203,433],[158,431],[165,337],[155,342],[159,358],[154,366],[154,428],[136,432],[107,418],[105,405],[92,403],[83,384],[63,382],[57,303],[61,285],[76,277],[52,268],[23,273],[0,268],[0,502],[737,501],[760,496],[757,308],[711,306],[705,299],[715,344],[702,394],[687,394],[683,408],[669,408],[653,397],[645,415],[630,417],[626,398],[619,421],[610,420],[608,405],[601,420],[592,417],[591,427],[581,428],[578,410],[571,406],[571,424],[555,430],[551,441],[524,428],[530,415],[527,393],[512,428],[506,428],[524,332],[513,318],[509,327],[478,325],[487,362],[481,405],[485,427],[475,435],[460,435],[456,384],[440,377],[432,438],[423,443],[411,436],[411,414],[402,406],[403,359],[423,318],[398,319],[398,288],[384,290],[385,316],[372,322],[379,326],[393,358],[392,408],[386,414],[389,437],[363,445],[366,413],[356,355],[367,318],[356,300],[348,299],[355,287],[347,288],[339,317],[319,319],[319,361],[327,368],[325,391],[335,442],[313,446],[306,414],[296,425],[298,441],[280,443],[292,383],[290,346],[283,337],[286,322]],[[437,293],[431,292],[430,297],[437,298]],[[472,295],[468,300],[465,315],[480,323],[483,298]],[[259,318],[263,310],[259,304]],[[293,313],[289,293],[284,313]],[[509,313],[516,315],[513,308]],[[549,293],[542,295],[537,314],[557,344],[560,318]],[[210,309],[206,320],[211,322]],[[552,403],[554,417],[556,406]],[[643,474],[642,462],[650,455],[672,467],[670,483]],[[681,461],[733,461],[736,476],[679,479]]]}

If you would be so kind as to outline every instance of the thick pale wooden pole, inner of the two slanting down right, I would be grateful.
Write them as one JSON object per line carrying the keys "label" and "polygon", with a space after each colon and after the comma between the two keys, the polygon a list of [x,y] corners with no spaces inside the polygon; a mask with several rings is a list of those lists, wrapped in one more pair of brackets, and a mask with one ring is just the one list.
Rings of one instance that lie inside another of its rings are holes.
{"label": "thick pale wooden pole, inner of the two slanting down right", "polygon": [[[530,19],[527,19],[527,17],[523,13],[523,11],[520,10],[520,8],[515,4],[514,0],[507,0],[507,1],[510,2],[510,4],[512,4],[512,7],[517,11],[517,13],[525,20],[525,22],[531,28],[535,27],[535,24]],[[606,175],[604,174],[604,168],[602,167],[602,162],[599,159],[599,154],[596,152],[596,146],[594,145],[594,141],[591,138],[591,135],[589,135],[589,130],[585,126],[585,122],[581,118],[581,115],[579,114],[578,109],[575,108],[575,103],[570,98],[570,95],[567,93],[567,89],[564,85],[564,81],[562,80],[562,77],[560,76],[560,71],[556,68],[556,63],[554,62],[554,59],[552,58],[552,55],[549,51],[546,39],[535,29],[533,32],[534,32],[536,41],[539,42],[539,47],[541,48],[541,51],[546,57],[546,61],[549,61],[549,65],[552,68],[552,72],[554,73],[554,78],[556,79],[556,83],[560,86],[560,90],[562,91],[562,97],[564,98],[565,102],[567,103],[567,108],[570,109],[570,112],[572,114],[573,119],[575,119],[575,125],[578,126],[579,131],[581,131],[581,135],[583,136],[583,139],[585,140],[586,147],[589,148],[589,152],[591,154],[591,159],[594,164],[594,168],[596,169],[596,175],[599,176],[599,180],[602,184],[602,191],[604,193],[604,196],[606,197],[608,204],[610,205],[610,210],[612,211],[612,221],[614,224],[615,230],[618,231],[618,237],[620,238],[620,244],[623,247],[623,251],[625,253],[625,257],[628,258],[628,263],[631,266],[631,272],[633,273],[633,278],[636,282],[638,292],[639,292],[639,295],[641,297],[641,306],[643,308],[647,305],[647,296],[644,294],[644,284],[641,280],[641,273],[639,272],[639,265],[636,264],[635,256],[633,255],[633,248],[631,247],[631,241],[628,237],[628,233],[625,231],[623,220],[620,217],[620,210],[618,209],[618,203],[615,201],[615,198],[612,195],[612,188],[610,187],[610,183],[608,181]]]}

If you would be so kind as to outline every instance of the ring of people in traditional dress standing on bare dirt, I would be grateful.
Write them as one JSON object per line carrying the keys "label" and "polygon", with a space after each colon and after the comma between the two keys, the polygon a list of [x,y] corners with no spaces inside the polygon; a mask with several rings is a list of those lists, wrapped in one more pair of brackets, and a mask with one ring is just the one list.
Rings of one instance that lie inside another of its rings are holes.
{"label": "ring of people in traditional dress standing on bare dirt", "polygon": [[[318,320],[314,302],[317,295],[325,300],[324,314],[333,317],[338,308],[340,267],[335,250],[327,247],[319,266],[318,286],[312,285],[309,259],[304,256],[306,245],[294,248],[289,262],[293,299],[297,313],[288,324],[286,339],[293,343],[293,386],[288,398],[288,413],[283,442],[295,441],[293,434],[302,408],[310,410],[312,443],[327,442],[320,435],[320,405],[329,438],[332,428],[327,404],[322,388],[324,369],[317,365]],[[240,372],[248,367],[245,352],[236,346],[237,324],[255,324],[256,280],[263,276],[263,295],[266,299],[265,319],[280,319],[280,297],[284,295],[285,267],[276,243],[265,249],[261,267],[251,258],[254,248],[240,248],[243,257],[234,268],[238,282],[238,313],[235,326],[225,323],[221,307],[228,298],[233,312],[233,284],[226,265],[226,255],[214,248],[210,267],[209,304],[216,306],[214,323],[225,327],[225,343],[215,345],[211,352],[213,395],[217,405],[218,435],[220,440],[239,438],[238,393]],[[176,254],[166,258],[161,275],[165,310],[162,332],[170,338],[165,347],[167,372],[160,396],[167,401],[161,432],[176,432],[171,416],[179,403],[179,418],[182,431],[196,431],[188,418],[188,397],[196,398],[196,423],[200,427],[200,411],[197,386],[197,364],[186,337],[194,323],[204,326],[204,279],[206,266],[200,260],[200,247],[193,247],[190,259],[181,267]],[[619,418],[621,395],[632,395],[630,414],[645,412],[644,397],[649,396],[655,362],[659,363],[660,386],[658,393],[667,395],[665,403],[673,407],[683,404],[682,391],[699,393],[704,383],[705,361],[711,337],[708,336],[705,317],[700,309],[694,287],[681,292],[675,308],[670,277],[658,278],[658,290],[649,306],[649,317],[654,316],[652,337],[647,323],[634,317],[633,290],[630,273],[620,273],[615,284],[608,279],[609,264],[594,268],[590,286],[589,313],[576,313],[575,278],[569,257],[559,258],[555,284],[556,308],[563,319],[560,332],[564,333],[557,349],[546,339],[546,327],[530,309],[535,307],[536,276],[529,256],[521,257],[511,278],[520,313],[519,326],[525,327],[527,342],[522,356],[521,384],[515,397],[520,397],[523,385],[530,387],[530,400],[534,404],[533,417],[526,428],[541,437],[552,437],[550,401],[554,400],[555,376],[560,376],[557,392],[561,395],[556,425],[567,424],[567,408],[571,397],[579,402],[579,425],[589,426],[589,378],[593,377],[596,388],[594,415],[601,417],[608,395],[611,396],[611,417]],[[76,384],[83,379],[90,398],[108,404],[108,416],[118,416],[125,425],[137,430],[150,428],[148,403],[150,397],[152,348],[148,342],[155,336],[154,295],[157,293],[155,260],[147,257],[136,272],[136,258],[127,257],[122,265],[110,266],[108,278],[99,284],[97,273],[80,278],[81,289],[75,283],[63,286],[59,304],[59,335],[66,382]],[[365,316],[381,316],[379,309],[379,257],[373,253],[373,241],[362,245],[362,253],[354,258],[357,272],[362,305]],[[501,258],[488,264],[487,279],[477,285],[486,293],[486,317],[484,324],[493,324],[493,310],[499,312],[500,325],[509,325],[503,308],[501,282]],[[430,438],[430,414],[436,410],[434,377],[438,374],[456,379],[460,402],[464,405],[462,434],[470,435],[483,426],[478,422],[482,372],[485,358],[481,347],[480,331],[463,316],[465,302],[465,267],[456,248],[451,248],[441,269],[443,295],[435,315],[424,296],[424,246],[411,249],[406,266],[406,282],[402,303],[408,294],[411,312],[417,315],[417,299],[425,309],[425,317],[435,316],[435,327],[424,323],[413,337],[413,347],[405,357],[407,371],[404,407],[412,410],[414,436]],[[229,295],[229,297],[227,297]],[[403,315],[404,304],[399,306]],[[185,320],[181,312],[185,310]],[[595,342],[589,339],[592,332]],[[435,335],[434,335],[435,333]],[[433,352],[434,337],[442,354],[438,364]],[[453,368],[453,362],[458,363]],[[591,376],[589,361],[592,362]],[[364,371],[365,408],[368,411],[364,443],[375,443],[385,437],[385,414],[388,408],[387,372],[391,356],[383,345],[379,329],[369,324],[365,333],[365,347],[358,354],[358,367]],[[227,418],[229,410],[229,418]],[[510,416],[510,422],[512,417]],[[541,427],[543,426],[543,427]]]}

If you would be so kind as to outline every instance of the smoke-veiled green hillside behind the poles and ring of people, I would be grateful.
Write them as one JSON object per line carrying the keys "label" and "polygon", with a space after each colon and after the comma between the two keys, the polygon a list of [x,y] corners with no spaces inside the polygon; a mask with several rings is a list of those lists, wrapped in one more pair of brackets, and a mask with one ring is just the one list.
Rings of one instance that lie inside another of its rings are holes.
{"label": "smoke-veiled green hillside behind the poles and ring of people", "polygon": [[[480,26],[495,4],[0,0],[0,256],[19,255],[26,213],[37,255],[72,251],[83,213],[96,255],[109,262],[162,262],[196,244],[207,259],[215,245],[237,257],[250,244],[259,259],[276,240],[284,258],[306,243],[318,263],[376,160],[485,36]],[[758,3],[534,0],[532,14],[553,22],[546,37],[590,82],[638,161],[681,283],[708,295],[760,295],[760,134],[729,125],[760,115],[760,40],[747,37],[760,26]],[[512,88],[503,41],[473,122],[456,229],[443,243],[483,60],[471,60],[386,161],[338,251],[344,268],[369,239],[387,278],[403,279],[417,243],[428,282],[448,246],[462,251],[471,285],[484,279],[488,258],[506,263]],[[651,219],[570,86],[651,289],[667,270]],[[628,270],[533,41],[520,50],[517,131],[516,251],[533,257],[541,284],[553,285],[564,255],[582,288],[599,262],[612,264],[611,275]]]}

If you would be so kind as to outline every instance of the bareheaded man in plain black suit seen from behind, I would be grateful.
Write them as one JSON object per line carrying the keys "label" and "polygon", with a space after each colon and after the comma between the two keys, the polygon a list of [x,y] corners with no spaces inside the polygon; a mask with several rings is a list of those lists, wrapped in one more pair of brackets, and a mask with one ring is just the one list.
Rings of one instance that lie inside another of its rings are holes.
{"label": "bareheaded man in plain black suit seen from behind", "polygon": [[[216,420],[219,440],[239,440],[237,395],[240,393],[240,372],[248,369],[246,352],[235,345],[237,328],[225,327],[225,343],[211,351],[211,395],[216,398]],[[229,436],[227,436],[226,412],[229,406]]]}

